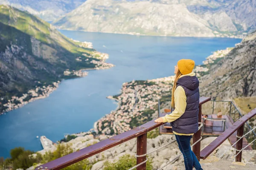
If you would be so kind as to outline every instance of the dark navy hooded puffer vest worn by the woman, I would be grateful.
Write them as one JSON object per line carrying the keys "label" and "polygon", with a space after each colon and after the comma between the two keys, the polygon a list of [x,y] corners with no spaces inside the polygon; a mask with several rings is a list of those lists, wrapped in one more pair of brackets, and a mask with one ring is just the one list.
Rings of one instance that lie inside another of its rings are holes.
{"label": "dark navy hooded puffer vest worn by the woman", "polygon": [[[186,94],[186,110],[180,118],[171,122],[176,133],[196,133],[198,131],[199,81],[196,76],[184,76],[178,79],[177,87],[183,87]],[[176,88],[177,88],[176,87]]]}

